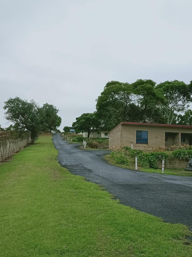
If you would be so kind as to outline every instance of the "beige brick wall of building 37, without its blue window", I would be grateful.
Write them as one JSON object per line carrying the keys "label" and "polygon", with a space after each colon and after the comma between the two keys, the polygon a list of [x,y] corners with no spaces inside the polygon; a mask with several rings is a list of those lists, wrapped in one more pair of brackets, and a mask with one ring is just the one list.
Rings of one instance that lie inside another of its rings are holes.
{"label": "beige brick wall of building 37, without its blue window", "polygon": [[[148,144],[136,143],[136,130],[148,131]],[[177,133],[172,134],[172,139],[171,134],[169,135],[167,143],[169,146],[171,144],[180,144],[181,132],[192,134],[192,129],[122,124],[109,133],[109,148],[121,148],[123,146],[131,147],[132,143],[133,149],[138,150],[152,150],[156,146],[165,147],[165,132]]]}

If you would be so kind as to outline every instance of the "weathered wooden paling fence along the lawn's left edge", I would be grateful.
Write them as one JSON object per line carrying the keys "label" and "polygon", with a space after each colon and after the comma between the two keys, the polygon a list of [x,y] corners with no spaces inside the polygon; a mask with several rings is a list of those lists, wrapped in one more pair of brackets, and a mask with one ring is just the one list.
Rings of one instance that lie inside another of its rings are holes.
{"label": "weathered wooden paling fence along the lawn's left edge", "polygon": [[25,147],[29,142],[31,142],[30,136],[17,140],[9,139],[0,141],[0,162],[12,156],[15,152],[18,152],[19,149]]}

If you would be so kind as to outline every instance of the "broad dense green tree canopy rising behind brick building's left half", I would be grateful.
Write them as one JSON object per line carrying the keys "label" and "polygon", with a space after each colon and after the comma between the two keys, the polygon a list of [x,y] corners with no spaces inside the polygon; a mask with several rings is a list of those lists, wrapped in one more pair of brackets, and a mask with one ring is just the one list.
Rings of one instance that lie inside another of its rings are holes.
{"label": "broad dense green tree canopy rising behind brick building's left half", "polygon": [[121,121],[161,122],[158,108],[164,96],[152,80],[138,79],[132,84],[111,81],[96,99],[97,117],[105,129],[112,129]]}

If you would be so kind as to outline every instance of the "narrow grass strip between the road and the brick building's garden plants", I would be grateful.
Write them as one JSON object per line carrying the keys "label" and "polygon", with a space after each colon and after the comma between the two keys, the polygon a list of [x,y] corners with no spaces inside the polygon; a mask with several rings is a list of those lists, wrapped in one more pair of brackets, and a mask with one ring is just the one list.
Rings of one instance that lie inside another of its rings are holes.
{"label": "narrow grass strip between the road and the brick building's garden plants", "polygon": [[[110,154],[107,154],[106,156],[103,157],[105,160],[107,160],[110,164],[121,167],[121,168],[125,168],[125,169],[130,169],[130,170],[135,170],[135,160],[130,159],[129,164],[127,165],[122,165],[122,164],[115,164],[115,161],[113,160],[113,158],[110,156]],[[162,174],[161,169],[152,169],[152,168],[142,168],[140,166],[137,165],[137,170],[139,171],[143,171],[143,172],[150,172],[150,173],[159,173]],[[177,169],[177,168],[170,168],[170,169],[165,169],[164,170],[164,174],[167,175],[176,175],[176,176],[192,176],[192,172],[191,171],[187,171],[187,170],[181,170],[181,169]]]}

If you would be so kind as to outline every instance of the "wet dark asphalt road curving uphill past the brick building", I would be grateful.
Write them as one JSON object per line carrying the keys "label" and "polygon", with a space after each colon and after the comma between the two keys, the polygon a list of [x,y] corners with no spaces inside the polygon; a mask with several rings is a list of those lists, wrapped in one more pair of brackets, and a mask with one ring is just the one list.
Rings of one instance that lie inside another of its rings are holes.
{"label": "wet dark asphalt road curving uphill past the brick building", "polygon": [[59,134],[53,135],[58,161],[71,173],[106,188],[122,204],[192,230],[192,177],[126,170],[110,165],[105,150],[82,150]]}

